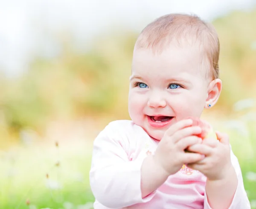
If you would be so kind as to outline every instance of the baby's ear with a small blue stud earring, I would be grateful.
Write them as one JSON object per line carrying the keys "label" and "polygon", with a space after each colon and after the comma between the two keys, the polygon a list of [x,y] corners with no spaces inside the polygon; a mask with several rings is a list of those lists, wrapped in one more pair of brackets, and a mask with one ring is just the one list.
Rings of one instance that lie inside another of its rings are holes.
{"label": "baby's ear with a small blue stud earring", "polygon": [[207,99],[204,104],[204,108],[210,108],[218,101],[222,89],[221,79],[214,79],[209,83],[207,90]]}

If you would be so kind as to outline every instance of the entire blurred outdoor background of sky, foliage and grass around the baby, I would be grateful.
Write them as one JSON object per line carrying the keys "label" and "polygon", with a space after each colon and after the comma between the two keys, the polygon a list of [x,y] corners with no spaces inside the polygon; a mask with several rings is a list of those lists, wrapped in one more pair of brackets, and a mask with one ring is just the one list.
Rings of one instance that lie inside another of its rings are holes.
{"label": "entire blurred outdoor background of sky, foliage and grass around the baby", "polygon": [[256,208],[256,0],[0,0],[0,208],[90,209],[93,139],[129,119],[131,58],[155,18],[218,31],[223,92],[204,113],[230,134]]}

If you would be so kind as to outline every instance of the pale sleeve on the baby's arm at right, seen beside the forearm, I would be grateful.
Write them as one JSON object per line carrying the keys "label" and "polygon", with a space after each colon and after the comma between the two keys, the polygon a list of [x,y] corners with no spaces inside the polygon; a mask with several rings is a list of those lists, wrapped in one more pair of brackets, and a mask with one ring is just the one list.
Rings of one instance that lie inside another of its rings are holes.
{"label": "pale sleeve on the baby's arm at right, seen beside the forearm", "polygon": [[[231,162],[233,164],[233,167],[236,170],[236,175],[238,178],[238,185],[229,209],[250,209],[251,208],[250,202],[244,189],[244,182],[243,182],[241,168],[239,166],[239,161],[237,157],[234,155],[234,153],[232,152],[232,150],[230,152],[231,152],[230,153]],[[204,209],[211,209],[207,200],[206,192],[204,197]]]}

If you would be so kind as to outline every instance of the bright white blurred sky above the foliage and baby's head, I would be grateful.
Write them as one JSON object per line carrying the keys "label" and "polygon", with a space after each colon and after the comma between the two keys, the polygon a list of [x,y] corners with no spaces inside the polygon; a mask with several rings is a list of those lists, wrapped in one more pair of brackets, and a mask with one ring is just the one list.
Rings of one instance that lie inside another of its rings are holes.
{"label": "bright white blurred sky above the foliage and baby's head", "polygon": [[76,45],[86,48],[113,25],[140,31],[163,14],[186,12],[211,21],[255,5],[256,0],[0,0],[0,70],[15,76],[36,55],[56,56],[59,31],[70,31]]}

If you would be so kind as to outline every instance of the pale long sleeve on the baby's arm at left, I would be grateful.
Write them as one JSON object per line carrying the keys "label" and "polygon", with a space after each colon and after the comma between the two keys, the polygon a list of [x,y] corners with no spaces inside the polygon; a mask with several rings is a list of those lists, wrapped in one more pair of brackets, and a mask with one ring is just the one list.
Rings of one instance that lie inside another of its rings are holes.
{"label": "pale long sleeve on the baby's arm at left", "polygon": [[[118,139],[119,137],[119,139]],[[142,198],[143,159],[130,161],[118,134],[103,130],[93,144],[90,186],[96,201],[109,208],[122,208],[150,201],[154,193]]]}

